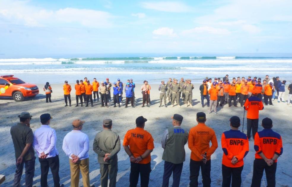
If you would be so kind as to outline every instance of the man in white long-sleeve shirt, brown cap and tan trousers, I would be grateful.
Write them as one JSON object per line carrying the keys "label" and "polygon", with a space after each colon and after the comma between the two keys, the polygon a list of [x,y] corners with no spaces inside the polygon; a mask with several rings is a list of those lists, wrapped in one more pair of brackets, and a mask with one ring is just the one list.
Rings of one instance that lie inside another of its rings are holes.
{"label": "man in white long-sleeve shirt, brown cap and tan trousers", "polygon": [[81,132],[85,121],[80,119],[72,122],[73,130],[66,134],[63,140],[63,150],[69,156],[71,171],[71,187],[79,186],[79,173],[81,171],[83,186],[90,187],[89,183],[89,138]]}

